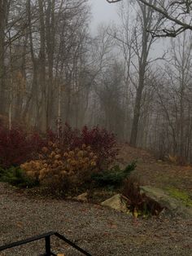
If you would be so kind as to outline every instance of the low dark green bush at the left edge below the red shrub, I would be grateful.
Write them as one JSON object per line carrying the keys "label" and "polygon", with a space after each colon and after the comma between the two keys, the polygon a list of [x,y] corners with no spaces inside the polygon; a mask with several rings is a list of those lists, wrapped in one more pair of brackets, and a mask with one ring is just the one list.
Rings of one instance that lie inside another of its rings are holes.
{"label": "low dark green bush at the left edge below the red shrub", "polygon": [[24,170],[20,167],[11,166],[9,169],[0,169],[0,181],[10,183],[19,188],[33,188],[37,186],[37,181],[28,178]]}

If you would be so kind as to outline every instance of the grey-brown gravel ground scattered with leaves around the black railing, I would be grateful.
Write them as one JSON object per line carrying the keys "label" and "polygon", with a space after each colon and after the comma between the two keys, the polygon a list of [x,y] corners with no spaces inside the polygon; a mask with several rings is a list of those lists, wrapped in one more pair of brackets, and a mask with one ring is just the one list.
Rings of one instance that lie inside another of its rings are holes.
{"label": "grey-brown gravel ground scattered with leaves around the black railing", "polygon": [[[182,218],[133,219],[100,205],[24,196],[0,183],[0,245],[43,232],[57,231],[94,256],[192,255],[192,221]],[[44,241],[0,255],[39,255]],[[78,254],[58,239],[55,253]]]}

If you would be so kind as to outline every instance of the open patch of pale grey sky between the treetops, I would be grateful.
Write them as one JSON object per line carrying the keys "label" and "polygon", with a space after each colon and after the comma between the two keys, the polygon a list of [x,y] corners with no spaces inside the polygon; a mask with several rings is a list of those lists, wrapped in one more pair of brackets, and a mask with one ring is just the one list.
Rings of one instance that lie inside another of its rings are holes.
{"label": "open patch of pale grey sky between the treetops", "polygon": [[98,24],[109,24],[112,20],[118,20],[116,10],[120,3],[110,4],[106,0],[89,0],[92,11],[92,21],[90,25],[91,32],[94,33],[97,30]]}

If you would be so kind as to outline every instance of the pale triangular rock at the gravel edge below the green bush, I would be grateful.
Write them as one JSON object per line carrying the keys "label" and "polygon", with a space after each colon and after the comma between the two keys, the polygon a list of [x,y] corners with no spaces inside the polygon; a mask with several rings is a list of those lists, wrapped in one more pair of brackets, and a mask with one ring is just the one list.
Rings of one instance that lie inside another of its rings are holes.
{"label": "pale triangular rock at the gravel edge below the green bush", "polygon": [[121,212],[127,213],[128,209],[126,207],[126,202],[121,198],[120,194],[116,194],[111,198],[103,201],[101,205],[108,206],[115,210],[120,210]]}

